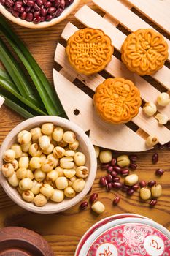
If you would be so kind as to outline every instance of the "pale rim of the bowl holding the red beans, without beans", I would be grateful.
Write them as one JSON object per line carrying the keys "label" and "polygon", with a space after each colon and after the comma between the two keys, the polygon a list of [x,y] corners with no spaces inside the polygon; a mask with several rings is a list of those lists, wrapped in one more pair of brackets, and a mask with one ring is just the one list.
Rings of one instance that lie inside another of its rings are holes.
{"label": "pale rim of the bowl holding the red beans, without beans", "polygon": [[11,12],[9,12],[2,4],[0,4],[0,12],[3,14],[7,19],[11,20],[13,23],[16,23],[20,26],[24,26],[26,28],[30,29],[44,29],[49,26],[53,26],[62,20],[64,20],[73,10],[77,7],[77,5],[80,3],[80,0],[74,0],[74,2],[69,5],[69,7],[66,7],[65,10],[63,10],[61,16],[57,18],[53,18],[50,21],[43,21],[39,24],[34,24],[33,22],[28,22],[26,20],[22,20],[21,18],[16,18],[12,15]]}

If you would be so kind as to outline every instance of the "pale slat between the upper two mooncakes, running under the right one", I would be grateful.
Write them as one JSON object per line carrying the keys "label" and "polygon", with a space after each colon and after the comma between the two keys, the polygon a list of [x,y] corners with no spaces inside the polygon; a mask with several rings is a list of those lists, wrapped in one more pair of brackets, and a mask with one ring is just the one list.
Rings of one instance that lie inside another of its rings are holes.
{"label": "pale slat between the upper two mooncakes, running under the right one", "polygon": [[[126,38],[125,34],[107,20],[104,20],[98,13],[85,5],[76,12],[75,17],[85,26],[103,30],[112,39],[112,45],[117,50],[121,50],[121,46]],[[170,70],[166,66],[163,66],[161,70],[152,75],[152,78],[155,78],[155,80],[158,80],[159,83],[170,90]]]}

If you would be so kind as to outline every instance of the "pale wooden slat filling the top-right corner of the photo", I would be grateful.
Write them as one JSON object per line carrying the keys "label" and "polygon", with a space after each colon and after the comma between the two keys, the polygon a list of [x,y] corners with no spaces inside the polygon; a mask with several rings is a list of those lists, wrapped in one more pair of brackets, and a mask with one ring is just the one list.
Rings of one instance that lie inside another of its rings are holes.
{"label": "pale wooden slat filling the top-right corner of the photo", "polygon": [[150,18],[158,26],[170,33],[170,2],[169,0],[128,0],[139,12]]}

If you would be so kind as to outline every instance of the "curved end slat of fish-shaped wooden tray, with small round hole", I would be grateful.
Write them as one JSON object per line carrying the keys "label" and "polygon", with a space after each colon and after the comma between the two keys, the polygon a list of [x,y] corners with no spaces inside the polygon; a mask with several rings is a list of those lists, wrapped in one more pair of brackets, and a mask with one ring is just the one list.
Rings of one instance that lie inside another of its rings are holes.
{"label": "curved end slat of fish-shaped wooden tray, with small round hole", "polygon": [[[53,69],[53,79],[55,90],[69,119],[85,131],[90,130],[89,137],[94,145],[119,151],[145,151],[147,149],[145,140],[136,135],[125,124],[114,126],[102,121],[93,108],[93,99],[55,69]],[[74,115],[75,109],[80,110],[78,116]],[[129,143],[128,138],[133,138],[131,143]]]}

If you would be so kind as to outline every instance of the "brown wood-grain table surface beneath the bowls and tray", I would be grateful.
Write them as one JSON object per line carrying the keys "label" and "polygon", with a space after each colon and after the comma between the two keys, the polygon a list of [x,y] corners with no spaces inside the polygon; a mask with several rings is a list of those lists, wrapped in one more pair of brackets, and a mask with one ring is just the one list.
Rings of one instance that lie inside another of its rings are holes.
{"label": "brown wood-grain table surface beneath the bowls and tray", "polygon": [[[88,3],[93,7],[93,4],[89,0],[82,0],[81,3]],[[55,47],[58,40],[61,39],[61,31],[70,20],[72,20],[75,25],[80,26],[80,23],[74,19],[73,15],[70,15],[69,18],[62,23],[44,30],[24,29],[12,24],[12,28],[20,38],[26,42],[29,50],[36,61],[38,61],[51,83],[53,83],[52,69],[54,66]],[[0,118],[0,143],[2,143],[7,133],[15,127],[15,125],[19,124],[20,121],[23,121],[23,118],[5,106],[2,106],[0,109]],[[159,161],[156,165],[152,165],[152,154],[154,152],[158,152],[159,155]],[[90,208],[85,211],[80,211],[79,205],[60,214],[33,214],[13,203],[4,193],[3,189],[0,189],[0,227],[20,226],[34,230],[44,236],[50,243],[50,246],[52,246],[55,255],[58,256],[74,255],[76,246],[85,231],[88,230],[91,225],[98,222],[98,220],[112,214],[122,214],[125,212],[142,214],[170,230],[169,154],[170,151],[167,148],[163,150],[155,148],[153,151],[138,154],[138,167],[135,173],[139,175],[140,180],[149,181],[154,179],[163,187],[163,195],[159,198],[154,208],[150,208],[148,202],[140,202],[138,192],[135,192],[131,197],[125,197],[123,192],[106,192],[105,189],[101,188],[98,184],[100,176],[105,174],[105,171],[100,170],[98,166],[92,192],[97,192],[99,200],[106,206],[104,214],[96,216],[96,214],[90,211]],[[161,178],[155,176],[155,170],[157,168],[166,170]],[[120,203],[117,206],[112,205],[115,194],[121,197]],[[89,196],[90,195],[87,195],[85,200],[88,200]]]}

